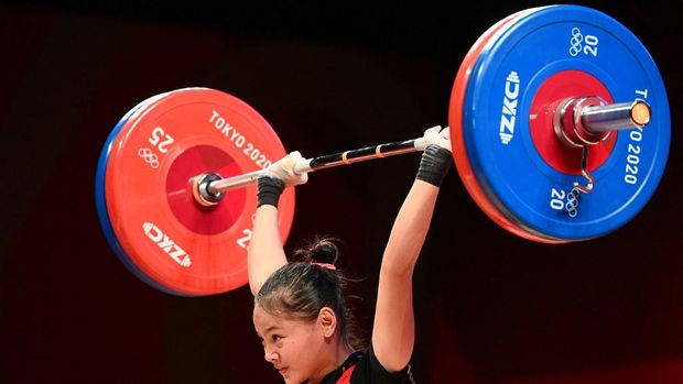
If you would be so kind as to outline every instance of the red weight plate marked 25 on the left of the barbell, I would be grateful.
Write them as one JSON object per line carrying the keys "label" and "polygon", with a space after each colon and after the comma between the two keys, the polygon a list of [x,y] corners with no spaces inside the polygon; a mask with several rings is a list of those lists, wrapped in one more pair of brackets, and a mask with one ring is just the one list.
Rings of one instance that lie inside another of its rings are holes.
{"label": "red weight plate marked 25 on the left of the barbell", "polygon": [[[117,239],[147,277],[170,292],[210,295],[245,285],[256,186],[232,189],[215,207],[198,205],[192,177],[265,168],[285,155],[270,124],[221,91],[172,91],[132,117],[107,163],[107,210]],[[294,189],[279,205],[283,241]]]}

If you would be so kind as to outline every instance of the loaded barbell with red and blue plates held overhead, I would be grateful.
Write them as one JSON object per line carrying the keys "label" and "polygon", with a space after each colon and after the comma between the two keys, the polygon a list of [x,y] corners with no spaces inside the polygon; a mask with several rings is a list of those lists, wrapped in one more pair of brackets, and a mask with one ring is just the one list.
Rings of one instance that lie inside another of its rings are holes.
{"label": "loaded barbell with red and blue plates held overhead", "polygon": [[[454,162],[507,231],[541,243],[595,239],[630,221],[663,175],[666,92],[640,41],[578,6],[514,13],[465,56],[451,96]],[[313,172],[416,152],[422,139],[305,158]],[[253,182],[285,155],[268,121],[235,96],[184,88],[151,97],[109,134],[96,175],[105,235],[138,277],[197,296],[247,283]],[[283,241],[294,188],[279,205]]]}

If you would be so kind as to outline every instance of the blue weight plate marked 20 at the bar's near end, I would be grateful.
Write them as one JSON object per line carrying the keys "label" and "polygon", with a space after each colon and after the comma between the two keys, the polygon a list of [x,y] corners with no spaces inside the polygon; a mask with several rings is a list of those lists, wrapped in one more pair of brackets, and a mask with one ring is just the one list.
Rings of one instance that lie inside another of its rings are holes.
{"label": "blue weight plate marked 20 at the bar's near end", "polygon": [[[566,196],[585,179],[543,160],[530,131],[536,91],[564,72],[595,78],[615,102],[639,98],[652,108],[643,129],[612,132],[614,149],[592,171],[595,188],[572,216]],[[506,87],[518,91],[506,95]],[[467,84],[463,120],[471,167],[491,201],[531,233],[567,241],[605,235],[638,215],[662,177],[671,141],[666,91],[646,47],[615,19],[578,6],[541,9],[489,41]]]}

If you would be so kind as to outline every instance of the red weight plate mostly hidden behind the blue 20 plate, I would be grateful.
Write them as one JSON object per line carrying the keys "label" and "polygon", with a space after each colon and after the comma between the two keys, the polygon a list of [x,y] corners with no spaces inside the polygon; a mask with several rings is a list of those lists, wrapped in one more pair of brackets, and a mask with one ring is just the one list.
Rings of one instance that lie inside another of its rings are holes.
{"label": "red weight plate mostly hidden behind the blue 20 plate", "polygon": [[481,210],[484,210],[484,212],[498,226],[520,238],[536,242],[556,244],[564,243],[566,241],[543,238],[520,228],[519,226],[510,221],[488,198],[471,169],[471,165],[469,164],[469,158],[467,156],[467,149],[465,147],[465,140],[463,136],[463,102],[465,99],[465,91],[467,90],[469,75],[471,74],[473,68],[477,63],[481,51],[484,51],[486,44],[497,34],[505,32],[507,29],[512,26],[517,20],[523,18],[531,12],[535,12],[536,10],[539,10],[539,8],[517,12],[499,21],[490,29],[488,29],[475,42],[471,48],[469,48],[469,52],[467,52],[467,55],[460,64],[460,67],[455,77],[455,81],[453,84],[453,91],[451,94],[451,106],[448,109],[448,124],[451,125],[453,158],[455,160],[455,165],[457,167],[458,174],[460,175],[463,184],[465,185],[465,188],[473,197],[475,202],[477,202],[479,208],[481,208]]}

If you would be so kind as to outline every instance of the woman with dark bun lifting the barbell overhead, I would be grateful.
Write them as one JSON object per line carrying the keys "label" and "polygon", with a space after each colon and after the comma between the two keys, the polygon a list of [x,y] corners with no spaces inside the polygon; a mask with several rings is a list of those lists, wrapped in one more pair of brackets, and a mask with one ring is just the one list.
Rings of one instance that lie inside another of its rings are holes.
{"label": "woman with dark bun lifting the barbell overhead", "polygon": [[[335,268],[337,249],[323,239],[288,263],[278,229],[278,200],[285,186],[307,182],[293,172],[297,152],[258,180],[258,208],[248,252],[253,323],[264,358],[285,383],[410,383],[414,344],[412,273],[424,243],[441,183],[452,164],[448,129],[424,132],[420,168],[393,224],[379,277],[371,344],[355,345]],[[357,350],[358,349],[358,350]]]}

